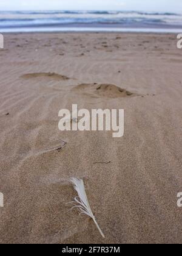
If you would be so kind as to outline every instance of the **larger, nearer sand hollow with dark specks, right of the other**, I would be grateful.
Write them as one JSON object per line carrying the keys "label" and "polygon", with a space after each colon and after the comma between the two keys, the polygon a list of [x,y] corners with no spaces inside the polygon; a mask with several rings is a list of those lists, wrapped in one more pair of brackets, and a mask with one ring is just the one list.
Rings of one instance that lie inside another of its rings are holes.
{"label": "larger, nearer sand hollow with dark specks, right of the other", "polygon": [[90,95],[105,98],[131,98],[138,96],[136,93],[132,93],[112,84],[79,84],[74,87],[72,91],[83,93],[88,96]]}

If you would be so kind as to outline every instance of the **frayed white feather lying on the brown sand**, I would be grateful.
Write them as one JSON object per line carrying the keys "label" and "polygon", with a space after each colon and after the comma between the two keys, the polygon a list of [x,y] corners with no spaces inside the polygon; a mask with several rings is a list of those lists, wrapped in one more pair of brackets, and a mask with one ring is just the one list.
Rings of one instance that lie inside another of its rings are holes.
{"label": "frayed white feather lying on the brown sand", "polygon": [[99,233],[101,234],[101,236],[103,236],[103,238],[105,238],[105,236],[104,236],[102,230],[100,229],[100,227],[98,226],[95,216],[93,215],[92,210],[90,208],[89,201],[87,199],[86,190],[84,187],[83,179],[76,179],[76,178],[72,177],[70,179],[70,182],[73,183],[74,188],[75,188],[76,192],[78,193],[78,196],[75,197],[75,201],[74,201],[74,202],[76,202],[76,204],[72,208],[79,208],[79,210],[81,211],[80,214],[85,214],[85,215],[89,216],[90,218],[92,218],[97,229],[99,230]]}

